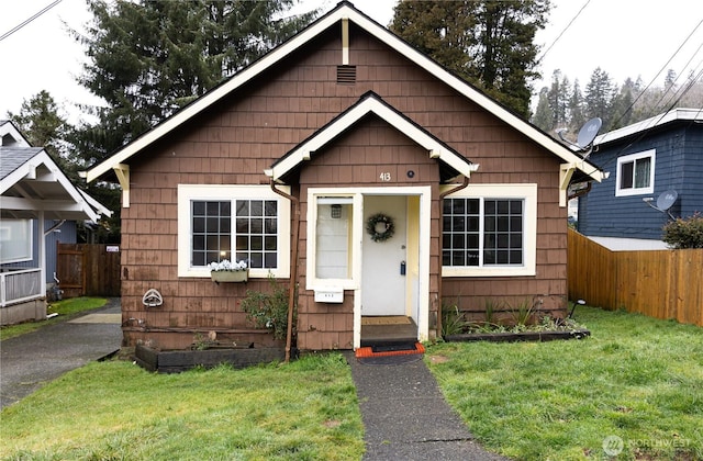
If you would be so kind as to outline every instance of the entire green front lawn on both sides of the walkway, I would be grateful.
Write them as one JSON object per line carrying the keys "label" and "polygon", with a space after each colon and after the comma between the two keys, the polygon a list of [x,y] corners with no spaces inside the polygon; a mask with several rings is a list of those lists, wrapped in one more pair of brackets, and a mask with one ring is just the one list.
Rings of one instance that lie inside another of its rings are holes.
{"label": "entire green front lawn on both sides of the walkway", "polygon": [[[578,307],[577,319],[591,338],[438,344],[425,360],[478,441],[506,457],[607,459],[603,441],[616,436],[620,460],[703,459],[703,328],[589,307]],[[354,383],[338,353],[167,375],[91,363],[0,419],[0,459],[359,460],[364,452]]]}

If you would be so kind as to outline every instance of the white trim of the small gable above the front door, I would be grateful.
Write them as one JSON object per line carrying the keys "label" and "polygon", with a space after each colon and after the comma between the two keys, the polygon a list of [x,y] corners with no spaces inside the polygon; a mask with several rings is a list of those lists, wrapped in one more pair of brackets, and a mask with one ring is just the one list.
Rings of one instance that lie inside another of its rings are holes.
{"label": "white trim of the small gable above the front door", "polygon": [[457,171],[457,175],[460,173],[469,177],[471,172],[478,169],[478,165],[471,164],[469,159],[408,119],[400,111],[383,101],[378,94],[369,91],[364,94],[356,104],[344,111],[308,139],[278,159],[269,170],[266,170],[266,175],[275,181],[280,180],[302,161],[310,160],[315,151],[326,146],[371,113],[424,147],[431,158],[436,158],[447,164]]}

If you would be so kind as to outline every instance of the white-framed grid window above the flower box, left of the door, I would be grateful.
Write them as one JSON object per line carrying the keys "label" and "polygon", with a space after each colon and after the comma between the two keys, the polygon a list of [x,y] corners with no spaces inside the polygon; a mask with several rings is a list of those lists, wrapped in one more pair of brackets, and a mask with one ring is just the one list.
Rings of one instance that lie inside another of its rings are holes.
{"label": "white-framed grid window above the flower box, left of the door", "polygon": [[209,276],[223,259],[246,261],[250,277],[288,277],[290,206],[270,188],[180,185],[178,205],[179,277]]}

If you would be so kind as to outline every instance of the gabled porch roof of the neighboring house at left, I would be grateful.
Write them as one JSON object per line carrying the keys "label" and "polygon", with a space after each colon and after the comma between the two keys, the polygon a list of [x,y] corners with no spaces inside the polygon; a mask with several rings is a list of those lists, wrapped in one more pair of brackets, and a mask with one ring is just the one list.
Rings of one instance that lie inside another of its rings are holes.
{"label": "gabled porch roof of the neighboring house at left", "polygon": [[42,147],[0,147],[3,218],[91,220],[112,212],[78,190]]}

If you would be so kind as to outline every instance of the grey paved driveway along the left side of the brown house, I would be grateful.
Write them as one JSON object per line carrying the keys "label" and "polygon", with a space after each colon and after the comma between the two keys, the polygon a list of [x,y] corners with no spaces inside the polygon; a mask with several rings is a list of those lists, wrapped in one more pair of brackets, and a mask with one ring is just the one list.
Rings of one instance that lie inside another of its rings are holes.
{"label": "grey paved driveway along the left side of the brown house", "polygon": [[122,344],[120,299],[89,314],[0,342],[0,408]]}

